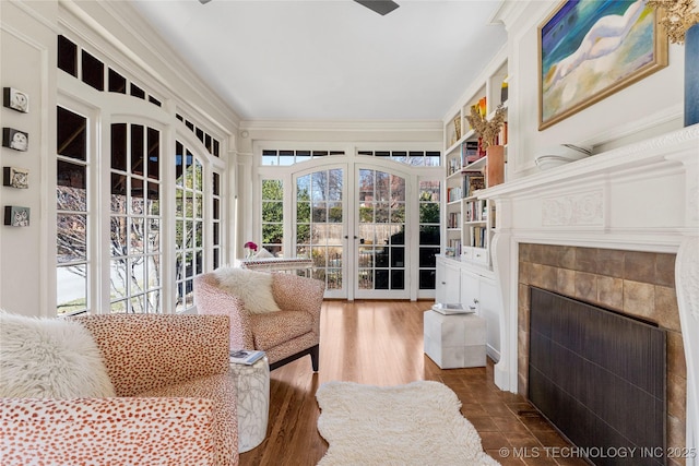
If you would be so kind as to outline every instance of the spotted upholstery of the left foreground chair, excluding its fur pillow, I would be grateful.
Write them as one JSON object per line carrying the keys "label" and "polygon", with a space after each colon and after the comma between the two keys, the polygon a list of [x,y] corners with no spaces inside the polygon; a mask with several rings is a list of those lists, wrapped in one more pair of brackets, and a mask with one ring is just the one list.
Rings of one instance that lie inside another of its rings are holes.
{"label": "spotted upholstery of the left foreground chair, excluding its fur pillow", "polygon": [[237,465],[228,318],[76,318],[116,398],[0,399],[4,465]]}

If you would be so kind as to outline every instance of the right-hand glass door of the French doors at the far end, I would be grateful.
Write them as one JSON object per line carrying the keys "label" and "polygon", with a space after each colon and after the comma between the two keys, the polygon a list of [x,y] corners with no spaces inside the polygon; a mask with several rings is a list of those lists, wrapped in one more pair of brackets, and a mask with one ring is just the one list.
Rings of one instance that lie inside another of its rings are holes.
{"label": "right-hand glass door of the French doors at the far end", "polygon": [[369,168],[357,172],[357,298],[408,298],[405,178]]}

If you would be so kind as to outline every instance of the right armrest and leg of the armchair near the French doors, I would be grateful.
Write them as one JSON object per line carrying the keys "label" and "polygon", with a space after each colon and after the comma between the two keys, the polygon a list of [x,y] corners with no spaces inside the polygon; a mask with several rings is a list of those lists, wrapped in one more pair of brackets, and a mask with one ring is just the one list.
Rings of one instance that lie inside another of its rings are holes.
{"label": "right armrest and leg of the armchair near the French doors", "polygon": [[308,312],[313,319],[313,332],[320,334],[320,309],[325,284],[294,274],[275,272],[272,276],[272,294],[280,308],[284,311]]}

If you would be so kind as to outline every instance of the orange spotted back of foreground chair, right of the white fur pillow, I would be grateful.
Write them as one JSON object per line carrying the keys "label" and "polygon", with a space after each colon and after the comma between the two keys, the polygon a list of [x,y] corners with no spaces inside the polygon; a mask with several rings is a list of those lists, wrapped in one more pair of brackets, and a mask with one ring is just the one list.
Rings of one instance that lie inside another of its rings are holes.
{"label": "orange spotted back of foreground chair, right of the white fur pillow", "polygon": [[104,314],[74,318],[93,335],[117,396],[135,396],[228,370],[224,315]]}

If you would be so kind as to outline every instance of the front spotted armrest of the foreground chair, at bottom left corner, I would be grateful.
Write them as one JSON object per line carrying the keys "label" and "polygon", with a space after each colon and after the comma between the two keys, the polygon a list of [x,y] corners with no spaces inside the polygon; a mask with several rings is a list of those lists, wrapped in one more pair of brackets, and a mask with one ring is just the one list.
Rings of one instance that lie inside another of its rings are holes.
{"label": "front spotted armrest of the foreground chair, at bottom left corner", "polygon": [[213,465],[203,398],[2,398],[2,464]]}

